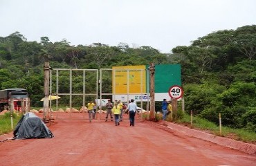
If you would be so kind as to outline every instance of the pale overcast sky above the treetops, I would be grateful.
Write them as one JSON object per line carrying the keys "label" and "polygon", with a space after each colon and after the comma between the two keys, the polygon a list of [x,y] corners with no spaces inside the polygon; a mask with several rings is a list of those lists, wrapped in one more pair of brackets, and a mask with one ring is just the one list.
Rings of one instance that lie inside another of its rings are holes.
{"label": "pale overcast sky above the treetops", "polygon": [[214,31],[256,24],[255,7],[255,0],[0,0],[0,36],[171,53]]}

